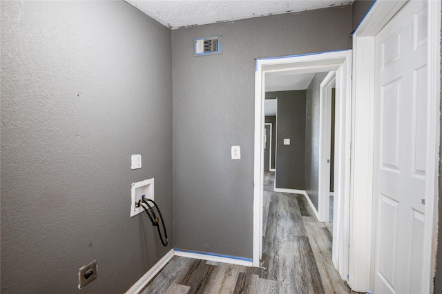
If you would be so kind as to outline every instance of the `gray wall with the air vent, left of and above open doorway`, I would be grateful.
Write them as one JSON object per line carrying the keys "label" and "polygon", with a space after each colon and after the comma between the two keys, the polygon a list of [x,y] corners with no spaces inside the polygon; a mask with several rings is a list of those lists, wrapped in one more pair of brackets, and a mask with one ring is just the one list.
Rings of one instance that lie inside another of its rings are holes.
{"label": "gray wall with the air vent, left of and above open doorway", "polygon": [[[255,59],[348,49],[351,30],[352,6],[173,30],[177,248],[252,257]],[[222,55],[193,57],[213,35]]]}

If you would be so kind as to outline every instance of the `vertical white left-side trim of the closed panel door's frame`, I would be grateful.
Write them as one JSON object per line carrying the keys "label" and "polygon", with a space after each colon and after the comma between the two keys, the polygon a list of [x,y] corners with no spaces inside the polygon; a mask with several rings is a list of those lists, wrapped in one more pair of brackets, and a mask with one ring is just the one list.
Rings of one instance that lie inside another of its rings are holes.
{"label": "vertical white left-side trim of the closed panel door's frame", "polygon": [[372,253],[374,37],[357,37],[357,33],[353,38],[352,202],[348,284],[353,291],[365,292],[370,288]]}

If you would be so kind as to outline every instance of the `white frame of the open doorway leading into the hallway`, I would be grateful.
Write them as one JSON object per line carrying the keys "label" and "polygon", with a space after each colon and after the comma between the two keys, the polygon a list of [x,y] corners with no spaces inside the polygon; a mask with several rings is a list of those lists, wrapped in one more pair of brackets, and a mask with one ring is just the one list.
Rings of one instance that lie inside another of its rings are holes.
{"label": "white frame of the open doorway leading into the hallway", "polygon": [[[256,60],[255,73],[255,148],[254,148],[254,188],[253,188],[253,266],[259,266],[262,256],[262,182],[263,182],[263,126],[265,121],[264,101],[265,101],[265,74],[267,72],[296,70],[296,73],[307,72],[329,72],[338,70],[336,75],[340,75],[340,88],[342,97],[340,120],[342,132],[338,141],[340,141],[340,172],[336,177],[340,179],[342,197],[340,197],[340,207],[336,215],[342,220],[340,233],[334,237],[334,244],[339,248],[338,264],[340,266],[341,277],[347,277],[348,272],[348,238],[349,238],[349,157],[350,157],[350,119],[351,119],[351,64],[352,50],[339,50],[332,52],[318,52],[307,55],[294,55],[289,57],[265,58]],[[337,89],[336,89],[337,91]],[[336,92],[336,97],[338,97]],[[337,98],[336,98],[337,99]],[[336,104],[336,108],[338,108]],[[338,114],[336,114],[338,117]],[[338,121],[336,121],[338,125]],[[336,146],[338,150],[338,146]],[[337,152],[337,151],[336,151]],[[335,193],[336,197],[336,193]],[[335,246],[335,245],[334,245]]]}

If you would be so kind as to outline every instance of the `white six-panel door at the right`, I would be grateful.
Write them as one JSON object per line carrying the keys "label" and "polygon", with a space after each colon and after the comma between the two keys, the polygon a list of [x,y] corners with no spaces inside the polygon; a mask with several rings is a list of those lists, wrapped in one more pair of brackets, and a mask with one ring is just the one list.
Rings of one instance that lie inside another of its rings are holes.
{"label": "white six-panel door at the right", "polygon": [[422,293],[427,2],[409,1],[376,35],[374,293]]}

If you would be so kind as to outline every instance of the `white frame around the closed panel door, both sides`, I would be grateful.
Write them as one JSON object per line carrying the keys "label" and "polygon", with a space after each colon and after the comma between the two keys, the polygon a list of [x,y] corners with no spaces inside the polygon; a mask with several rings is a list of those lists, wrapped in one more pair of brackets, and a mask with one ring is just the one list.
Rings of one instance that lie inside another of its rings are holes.
{"label": "white frame around the closed panel door, both sides", "polygon": [[[349,286],[353,291],[372,289],[374,266],[373,159],[374,159],[374,75],[375,36],[407,1],[375,1],[353,35],[353,105],[352,105],[352,211],[350,219]],[[425,183],[425,231],[423,292],[433,293],[436,265],[438,222],[438,167],[441,100],[441,2],[428,3],[427,91],[427,177]]]}

